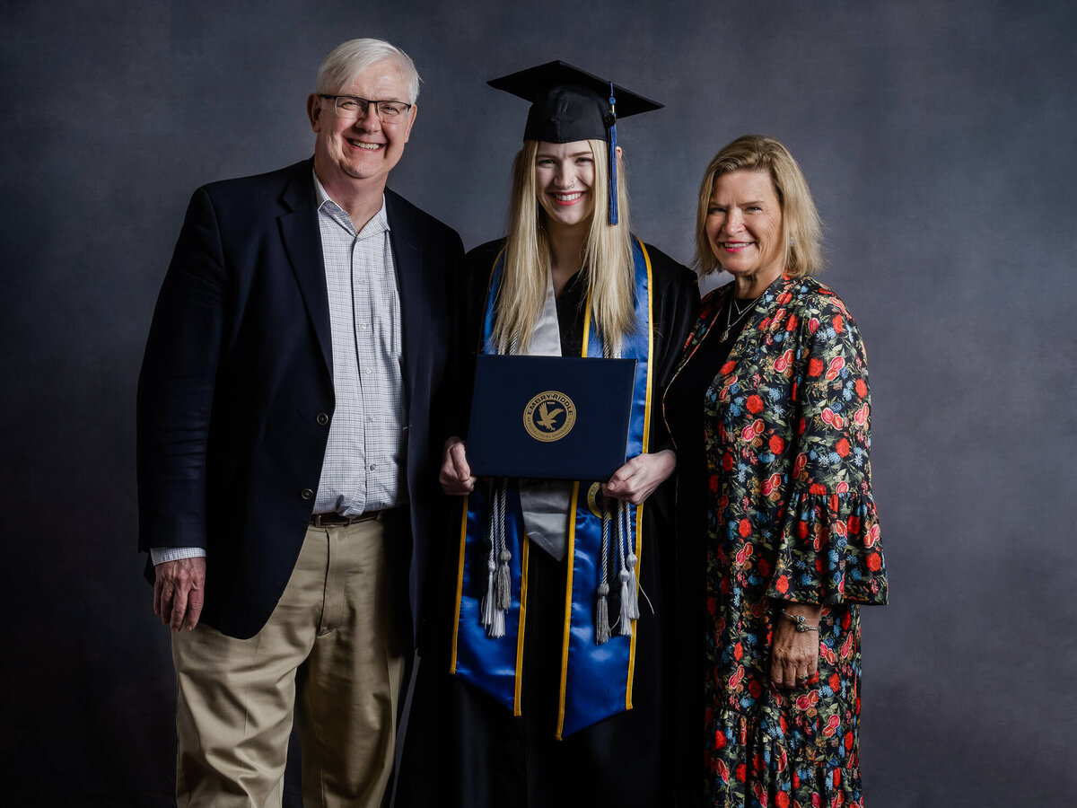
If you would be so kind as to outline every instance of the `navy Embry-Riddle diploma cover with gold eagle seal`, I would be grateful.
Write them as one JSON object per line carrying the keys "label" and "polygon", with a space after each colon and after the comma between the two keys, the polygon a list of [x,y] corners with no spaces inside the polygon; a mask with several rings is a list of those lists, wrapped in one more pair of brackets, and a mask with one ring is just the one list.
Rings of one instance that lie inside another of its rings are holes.
{"label": "navy Embry-Riddle diploma cover with gold eagle seal", "polygon": [[472,474],[609,479],[625,464],[634,379],[634,359],[480,354]]}

